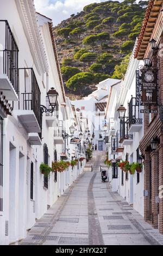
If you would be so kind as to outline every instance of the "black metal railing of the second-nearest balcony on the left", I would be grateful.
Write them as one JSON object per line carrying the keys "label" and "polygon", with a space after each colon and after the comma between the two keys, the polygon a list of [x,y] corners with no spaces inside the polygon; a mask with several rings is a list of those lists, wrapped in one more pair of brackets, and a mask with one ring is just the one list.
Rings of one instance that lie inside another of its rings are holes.
{"label": "black metal railing of the second-nearest balcony on the left", "polygon": [[[19,109],[23,110],[33,110],[35,117],[41,128],[42,118],[40,111],[40,89],[39,84],[37,83],[34,70],[32,68],[22,68],[18,69],[18,76],[20,82],[24,84],[24,87],[21,86],[21,96],[19,102]],[[24,79],[22,79],[24,78]]]}

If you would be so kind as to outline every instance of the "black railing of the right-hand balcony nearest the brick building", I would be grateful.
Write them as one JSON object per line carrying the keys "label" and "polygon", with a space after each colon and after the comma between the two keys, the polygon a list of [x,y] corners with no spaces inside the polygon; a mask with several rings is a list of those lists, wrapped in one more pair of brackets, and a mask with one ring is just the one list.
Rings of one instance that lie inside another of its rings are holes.
{"label": "black railing of the right-hand balcony nearest the brick building", "polygon": [[142,124],[142,118],[139,117],[140,113],[140,107],[139,105],[136,105],[136,98],[131,97],[131,100],[129,102],[129,127],[132,124]]}

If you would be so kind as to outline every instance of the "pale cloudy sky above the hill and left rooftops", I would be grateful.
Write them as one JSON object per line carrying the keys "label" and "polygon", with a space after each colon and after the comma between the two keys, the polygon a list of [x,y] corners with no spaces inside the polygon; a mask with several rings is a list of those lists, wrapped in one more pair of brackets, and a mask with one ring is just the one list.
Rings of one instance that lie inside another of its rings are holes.
{"label": "pale cloudy sky above the hill and left rooftops", "polygon": [[[34,0],[34,4],[36,11],[51,18],[55,26],[71,14],[82,11],[87,4],[106,1],[108,0]],[[119,0],[119,2],[122,1]]]}

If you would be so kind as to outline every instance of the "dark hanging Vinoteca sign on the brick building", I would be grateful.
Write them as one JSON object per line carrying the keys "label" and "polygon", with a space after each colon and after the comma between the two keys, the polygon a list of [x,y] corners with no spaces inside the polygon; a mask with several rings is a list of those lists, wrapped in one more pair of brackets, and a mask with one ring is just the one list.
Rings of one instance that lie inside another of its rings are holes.
{"label": "dark hanging Vinoteca sign on the brick building", "polygon": [[139,78],[140,105],[158,105],[158,70],[141,69]]}

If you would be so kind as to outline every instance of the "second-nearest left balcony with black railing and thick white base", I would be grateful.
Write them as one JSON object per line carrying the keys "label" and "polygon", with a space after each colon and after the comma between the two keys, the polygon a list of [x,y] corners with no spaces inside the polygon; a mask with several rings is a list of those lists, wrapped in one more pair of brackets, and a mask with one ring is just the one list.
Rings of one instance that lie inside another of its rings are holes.
{"label": "second-nearest left balcony with black railing and thick white base", "polygon": [[28,133],[41,132],[40,89],[32,68],[19,69],[21,83],[17,118]]}

